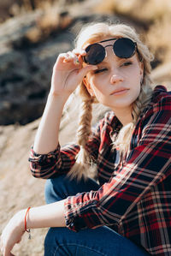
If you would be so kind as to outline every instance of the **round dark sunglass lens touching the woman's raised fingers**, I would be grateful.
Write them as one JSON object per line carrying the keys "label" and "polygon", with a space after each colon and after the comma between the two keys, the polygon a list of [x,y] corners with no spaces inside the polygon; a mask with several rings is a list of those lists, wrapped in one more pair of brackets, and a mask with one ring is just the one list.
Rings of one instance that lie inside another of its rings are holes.
{"label": "round dark sunglass lens touching the woman's raised fingers", "polygon": [[105,49],[102,45],[93,44],[89,45],[85,49],[86,56],[84,57],[85,63],[89,63],[91,65],[96,65],[97,63],[102,63],[105,57]]}

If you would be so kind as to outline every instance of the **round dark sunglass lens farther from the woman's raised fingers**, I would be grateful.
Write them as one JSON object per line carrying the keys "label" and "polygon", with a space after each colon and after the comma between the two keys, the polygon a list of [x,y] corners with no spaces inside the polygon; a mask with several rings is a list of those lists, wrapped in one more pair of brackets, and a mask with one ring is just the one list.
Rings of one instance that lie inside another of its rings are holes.
{"label": "round dark sunglass lens farther from the woman's raised fingers", "polygon": [[131,39],[117,39],[114,44],[114,52],[117,57],[132,57],[135,53],[135,44]]}

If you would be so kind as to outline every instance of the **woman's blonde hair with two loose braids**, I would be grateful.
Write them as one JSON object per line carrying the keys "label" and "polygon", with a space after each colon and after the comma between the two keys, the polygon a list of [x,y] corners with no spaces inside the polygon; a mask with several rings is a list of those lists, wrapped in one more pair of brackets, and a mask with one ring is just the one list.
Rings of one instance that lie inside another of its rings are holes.
{"label": "woman's blonde hair with two loose braids", "polygon": [[[110,36],[125,37],[136,42],[138,45],[139,61],[144,65],[144,75],[141,80],[139,97],[133,103],[133,122],[122,127],[116,140],[113,142],[113,148],[119,147],[122,155],[126,156],[129,151],[133,129],[135,128],[139,115],[144,110],[145,106],[150,103],[152,95],[150,61],[152,61],[153,56],[150,54],[147,46],[139,39],[139,35],[136,33],[135,29],[125,24],[98,22],[83,27],[76,39],[76,48],[82,48],[86,43],[94,43]],[[69,176],[77,177],[78,179],[88,176],[88,171],[91,167],[92,161],[89,153],[86,151],[85,145],[91,134],[91,104],[97,103],[97,99],[91,97],[83,82],[80,84],[80,96],[82,98],[82,105],[80,110],[80,126],[77,133],[80,152],[77,155],[76,163],[69,172]]]}

